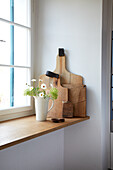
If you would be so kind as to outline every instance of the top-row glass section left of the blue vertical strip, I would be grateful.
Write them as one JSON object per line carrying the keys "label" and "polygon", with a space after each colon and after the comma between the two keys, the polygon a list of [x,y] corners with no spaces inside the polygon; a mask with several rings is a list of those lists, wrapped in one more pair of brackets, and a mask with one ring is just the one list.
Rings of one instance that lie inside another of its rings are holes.
{"label": "top-row glass section left of the blue vertical strip", "polygon": [[10,20],[10,0],[0,0],[0,18]]}

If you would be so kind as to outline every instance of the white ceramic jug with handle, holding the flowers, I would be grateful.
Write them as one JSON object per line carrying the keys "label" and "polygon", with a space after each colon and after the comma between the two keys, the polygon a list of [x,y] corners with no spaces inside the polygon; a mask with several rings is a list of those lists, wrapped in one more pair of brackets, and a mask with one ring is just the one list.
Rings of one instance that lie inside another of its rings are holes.
{"label": "white ceramic jug with handle, holding the flowers", "polygon": [[45,121],[47,118],[47,113],[53,108],[54,101],[50,109],[48,110],[48,103],[50,98],[41,98],[39,96],[34,96],[35,98],[35,112],[36,112],[36,120],[41,122]]}

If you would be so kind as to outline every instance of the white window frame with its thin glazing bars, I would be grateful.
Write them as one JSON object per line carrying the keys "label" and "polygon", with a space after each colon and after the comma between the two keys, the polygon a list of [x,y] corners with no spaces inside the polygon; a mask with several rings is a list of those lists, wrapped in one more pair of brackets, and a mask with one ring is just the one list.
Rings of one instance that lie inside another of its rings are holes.
{"label": "white window frame with its thin glazing bars", "polygon": [[[29,12],[30,12],[30,20],[31,20],[31,26],[27,27],[15,22],[11,22],[8,21],[6,19],[0,18],[0,21],[3,21],[5,23],[8,23],[10,25],[14,25],[14,26],[18,26],[21,28],[27,28],[30,30],[30,66],[18,66],[18,65],[7,65],[7,64],[0,64],[0,66],[3,67],[9,67],[9,68],[29,68],[30,69],[30,79],[33,78],[33,44],[34,44],[34,40],[33,40],[33,24],[34,24],[34,0],[30,0],[30,8],[29,8]],[[29,115],[33,115],[34,114],[34,107],[33,107],[33,98],[31,97],[31,105],[30,106],[23,106],[23,107],[10,107],[10,108],[6,108],[4,110],[0,110],[0,122],[1,121],[5,121],[5,120],[9,120],[9,119],[15,119],[15,118],[19,118],[19,117],[24,117],[24,116],[29,116]]]}

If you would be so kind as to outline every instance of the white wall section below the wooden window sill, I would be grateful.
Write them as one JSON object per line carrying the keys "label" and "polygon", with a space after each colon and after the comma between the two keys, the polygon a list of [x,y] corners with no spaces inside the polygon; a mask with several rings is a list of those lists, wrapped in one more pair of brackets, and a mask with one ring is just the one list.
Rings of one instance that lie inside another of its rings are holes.
{"label": "white wall section below the wooden window sill", "polygon": [[64,130],[0,151],[0,170],[64,170]]}

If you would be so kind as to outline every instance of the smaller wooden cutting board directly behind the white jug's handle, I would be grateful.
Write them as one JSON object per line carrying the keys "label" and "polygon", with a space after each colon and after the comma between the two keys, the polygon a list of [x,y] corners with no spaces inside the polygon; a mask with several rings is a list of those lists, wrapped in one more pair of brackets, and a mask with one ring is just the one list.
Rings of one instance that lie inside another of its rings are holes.
{"label": "smaller wooden cutting board directly behind the white jug's handle", "polygon": [[[68,101],[68,88],[60,85],[60,78],[53,78],[53,86],[58,89],[58,98],[54,100],[54,107],[48,112],[48,117],[62,118],[62,101]],[[51,107],[52,100],[49,101],[49,108]]]}

